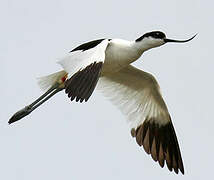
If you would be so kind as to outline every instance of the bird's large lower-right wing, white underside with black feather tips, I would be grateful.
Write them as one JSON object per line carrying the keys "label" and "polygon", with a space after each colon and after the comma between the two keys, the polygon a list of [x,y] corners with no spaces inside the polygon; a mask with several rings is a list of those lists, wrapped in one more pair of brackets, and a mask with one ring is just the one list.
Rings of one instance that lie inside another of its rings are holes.
{"label": "bird's large lower-right wing, white underside with black feather tips", "polygon": [[181,153],[155,78],[131,65],[99,79],[98,89],[128,116],[131,134],[160,166],[184,173]]}

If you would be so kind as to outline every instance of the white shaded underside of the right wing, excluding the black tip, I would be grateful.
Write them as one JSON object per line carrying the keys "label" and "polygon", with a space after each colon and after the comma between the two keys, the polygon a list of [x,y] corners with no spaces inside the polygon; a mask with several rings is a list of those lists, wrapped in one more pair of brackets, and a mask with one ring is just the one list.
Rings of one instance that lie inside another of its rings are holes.
{"label": "white shaded underside of the right wing, excluding the black tip", "polygon": [[146,118],[155,119],[160,125],[170,121],[159,85],[149,73],[129,65],[101,77],[98,89],[127,115],[132,128],[137,128]]}

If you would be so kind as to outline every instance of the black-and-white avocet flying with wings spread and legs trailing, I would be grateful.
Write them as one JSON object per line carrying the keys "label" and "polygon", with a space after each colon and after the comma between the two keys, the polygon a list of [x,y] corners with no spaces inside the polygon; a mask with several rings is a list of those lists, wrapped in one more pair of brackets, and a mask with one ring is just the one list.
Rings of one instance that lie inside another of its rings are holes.
{"label": "black-and-white avocet flying with wings spread and legs trailing", "polygon": [[159,85],[154,76],[131,63],[151,48],[169,42],[185,43],[195,36],[173,40],[163,32],[152,31],[134,41],[99,39],[84,43],[60,59],[63,70],[39,79],[39,86],[46,92],[16,112],[8,123],[30,114],[64,89],[71,101],[86,102],[97,85],[128,117],[131,135],[138,145],[161,167],[166,163],[170,171],[184,174],[178,140]]}

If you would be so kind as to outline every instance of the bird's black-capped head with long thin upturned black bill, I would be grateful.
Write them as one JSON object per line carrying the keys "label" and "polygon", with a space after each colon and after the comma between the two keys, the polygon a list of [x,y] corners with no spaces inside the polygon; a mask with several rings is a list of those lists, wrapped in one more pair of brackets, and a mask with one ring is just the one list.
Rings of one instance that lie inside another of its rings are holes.
{"label": "bird's black-capped head with long thin upturned black bill", "polygon": [[135,42],[139,44],[139,46],[141,46],[141,48],[145,51],[154,47],[164,45],[168,42],[185,43],[191,41],[196,35],[187,40],[174,40],[166,38],[166,35],[161,31],[152,31],[139,37],[135,40]]}

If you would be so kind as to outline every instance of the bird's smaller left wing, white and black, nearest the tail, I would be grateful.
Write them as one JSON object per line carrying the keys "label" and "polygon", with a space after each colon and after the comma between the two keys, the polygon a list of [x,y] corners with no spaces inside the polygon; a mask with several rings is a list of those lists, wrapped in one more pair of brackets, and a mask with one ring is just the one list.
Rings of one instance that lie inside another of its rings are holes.
{"label": "bird's smaller left wing, white and black, nearest the tail", "polygon": [[68,73],[65,92],[71,100],[87,101],[100,76],[109,40],[100,39],[73,49],[58,63]]}

